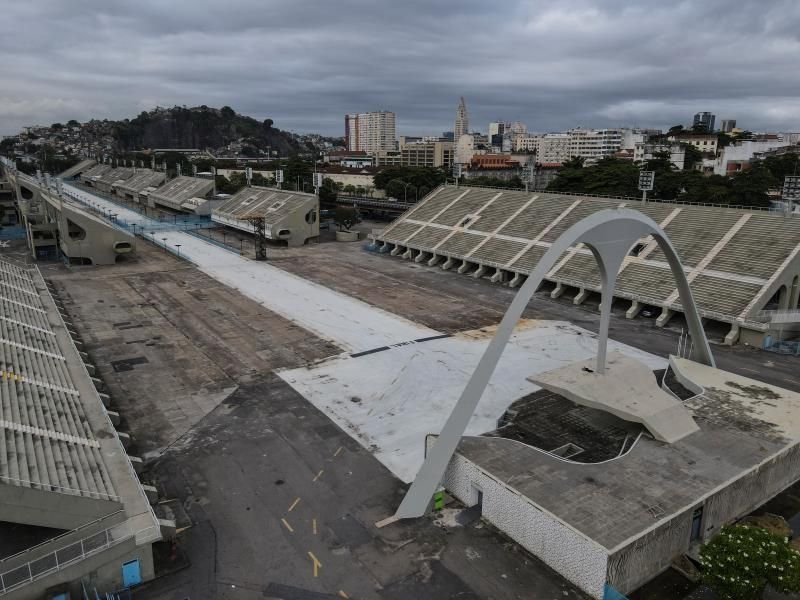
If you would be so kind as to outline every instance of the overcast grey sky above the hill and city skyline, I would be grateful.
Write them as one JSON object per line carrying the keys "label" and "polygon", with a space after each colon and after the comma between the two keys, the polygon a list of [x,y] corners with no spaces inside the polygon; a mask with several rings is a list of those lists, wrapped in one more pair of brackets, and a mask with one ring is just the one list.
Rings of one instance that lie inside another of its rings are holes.
{"label": "overcast grey sky above the hill and city skyline", "polygon": [[0,19],[0,134],[156,105],[343,135],[668,127],[697,111],[800,131],[797,0],[25,0]]}

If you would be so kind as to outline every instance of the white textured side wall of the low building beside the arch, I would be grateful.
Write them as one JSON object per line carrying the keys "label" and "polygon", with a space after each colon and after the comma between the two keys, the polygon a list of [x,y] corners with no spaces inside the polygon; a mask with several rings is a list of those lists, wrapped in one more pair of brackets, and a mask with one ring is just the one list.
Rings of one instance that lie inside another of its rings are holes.
{"label": "white textured side wall of the low building beside the arch", "polygon": [[599,544],[534,506],[460,454],[450,461],[444,485],[468,506],[477,502],[474,486],[479,486],[485,519],[587,594],[603,598],[608,553]]}

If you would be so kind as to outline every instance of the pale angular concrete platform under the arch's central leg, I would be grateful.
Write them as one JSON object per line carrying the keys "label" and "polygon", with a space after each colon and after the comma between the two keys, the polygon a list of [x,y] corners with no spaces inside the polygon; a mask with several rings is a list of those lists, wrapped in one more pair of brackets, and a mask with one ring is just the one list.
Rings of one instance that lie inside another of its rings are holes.
{"label": "pale angular concrete platform under the arch's central leg", "polygon": [[584,360],[528,380],[576,404],[641,423],[662,442],[677,442],[699,429],[689,411],[661,389],[653,370],[641,361],[615,351],[608,356],[605,373],[596,373],[595,364],[595,359]]}

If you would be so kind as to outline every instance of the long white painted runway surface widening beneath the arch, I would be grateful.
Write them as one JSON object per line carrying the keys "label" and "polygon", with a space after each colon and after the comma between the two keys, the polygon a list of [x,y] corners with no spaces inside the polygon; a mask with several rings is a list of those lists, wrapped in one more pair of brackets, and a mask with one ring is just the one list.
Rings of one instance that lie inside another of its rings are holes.
{"label": "long white painted runway surface widening beneath the arch", "polygon": [[[145,231],[151,223],[158,223],[87,195],[87,201],[137,222]],[[283,371],[280,376],[400,479],[408,482],[414,478],[424,458],[425,436],[444,426],[493,332],[415,341],[440,333],[188,233],[162,230],[145,237],[342,348],[344,352],[338,356],[311,368]],[[664,359],[630,346],[614,341],[609,346],[653,369],[666,367]],[[596,352],[594,334],[570,323],[521,322],[467,433],[494,429],[514,400],[539,389],[527,381],[530,375],[585,360]],[[365,354],[352,356],[360,353]]]}

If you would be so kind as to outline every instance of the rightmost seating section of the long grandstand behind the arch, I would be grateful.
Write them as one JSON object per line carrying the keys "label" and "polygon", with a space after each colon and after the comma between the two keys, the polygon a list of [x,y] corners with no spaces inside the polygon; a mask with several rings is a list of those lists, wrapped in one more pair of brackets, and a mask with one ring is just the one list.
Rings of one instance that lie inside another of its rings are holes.
{"label": "rightmost seating section of the long grandstand behind the arch", "polygon": [[795,219],[754,214],[708,268],[768,279],[798,244],[800,227]]}

